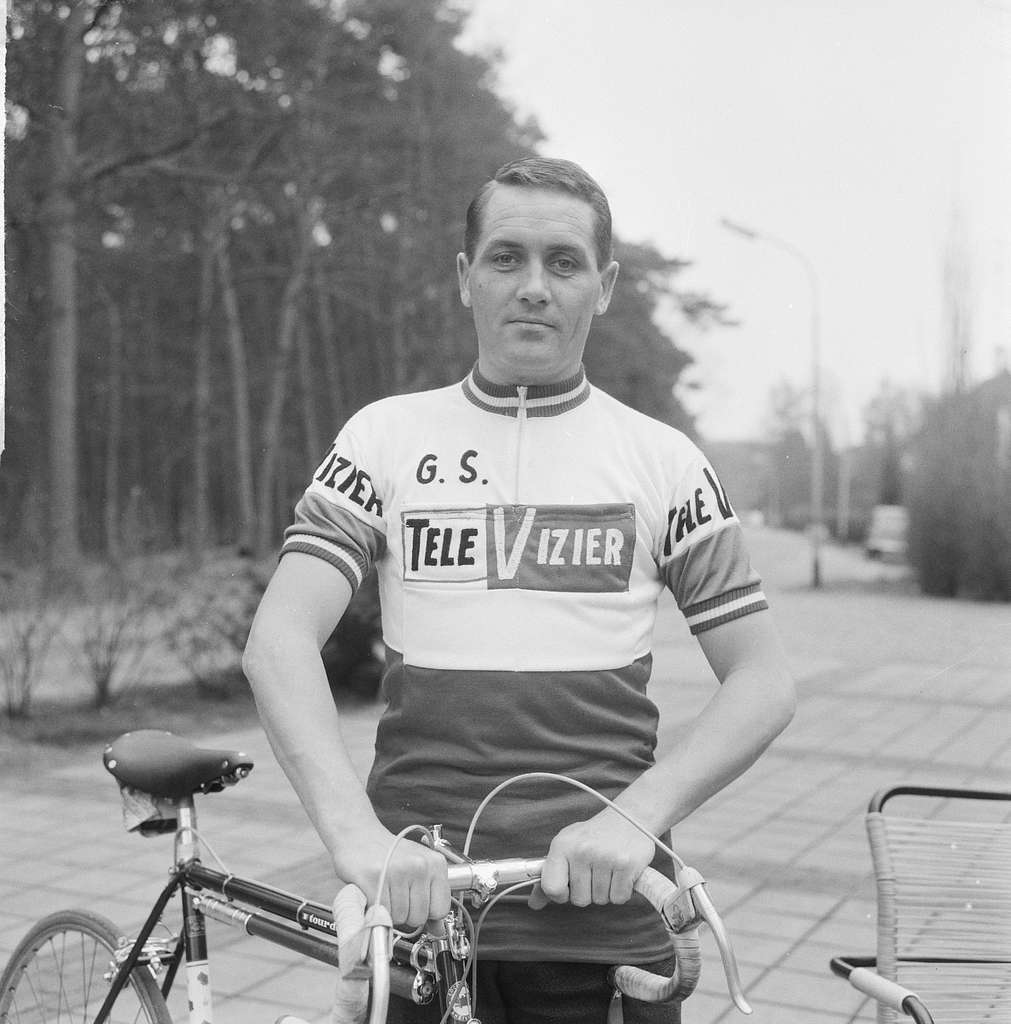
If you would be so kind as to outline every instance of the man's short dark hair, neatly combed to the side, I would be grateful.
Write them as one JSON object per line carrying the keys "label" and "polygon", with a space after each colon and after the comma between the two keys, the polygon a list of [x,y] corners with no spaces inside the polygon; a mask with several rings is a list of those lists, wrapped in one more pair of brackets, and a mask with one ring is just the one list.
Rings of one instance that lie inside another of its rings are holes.
{"label": "man's short dark hair, neatly combed to the side", "polygon": [[593,209],[593,241],[597,265],[603,267],[614,258],[610,241],[610,207],[600,185],[579,164],[574,164],[571,160],[525,157],[503,164],[470,201],[470,206],[467,207],[467,226],[463,237],[463,251],[468,260],[474,258],[485,207],[488,206],[488,201],[492,198],[497,184],[519,185],[523,188],[549,188],[585,200]]}

